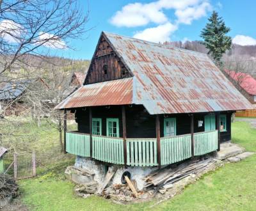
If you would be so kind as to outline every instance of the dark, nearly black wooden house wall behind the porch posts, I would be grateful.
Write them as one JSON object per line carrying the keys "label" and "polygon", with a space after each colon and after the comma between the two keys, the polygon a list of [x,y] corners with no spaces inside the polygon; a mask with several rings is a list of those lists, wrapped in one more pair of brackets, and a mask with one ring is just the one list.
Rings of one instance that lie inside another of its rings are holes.
{"label": "dark, nearly black wooden house wall behind the porch posts", "polygon": [[[127,138],[131,137],[156,137],[156,116],[148,114],[147,110],[142,105],[126,106],[126,128]],[[204,132],[204,124],[198,127],[198,121],[204,121],[204,116],[207,113],[194,114],[194,132]],[[229,141],[231,139],[231,114],[227,114],[227,132],[221,132],[221,141]],[[93,118],[102,118],[102,136],[106,136],[106,118],[119,119],[119,134],[123,136],[122,129],[122,107],[93,107]],[[176,133],[177,135],[190,134],[190,117],[188,114],[170,114],[165,117],[176,118]],[[89,112],[88,109],[77,109],[76,121],[78,123],[79,132],[89,133]],[[160,116],[161,137],[164,136],[163,130],[164,115]]]}

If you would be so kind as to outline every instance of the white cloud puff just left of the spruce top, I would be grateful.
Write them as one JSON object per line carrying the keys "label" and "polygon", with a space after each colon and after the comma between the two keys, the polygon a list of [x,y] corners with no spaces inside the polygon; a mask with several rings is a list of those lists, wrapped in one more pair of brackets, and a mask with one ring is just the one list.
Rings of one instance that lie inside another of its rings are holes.
{"label": "white cloud puff just left of the spruce top", "polygon": [[208,11],[211,11],[211,4],[204,2],[196,6],[190,6],[184,10],[176,10],[175,15],[177,22],[191,24],[193,20],[206,16]]}

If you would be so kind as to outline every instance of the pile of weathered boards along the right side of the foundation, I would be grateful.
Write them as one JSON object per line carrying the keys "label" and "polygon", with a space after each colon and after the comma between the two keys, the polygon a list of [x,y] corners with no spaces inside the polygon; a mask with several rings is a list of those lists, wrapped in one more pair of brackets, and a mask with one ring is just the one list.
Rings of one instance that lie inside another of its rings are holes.
{"label": "pile of weathered boards along the right side of the foundation", "polygon": [[168,189],[173,187],[173,184],[188,176],[196,176],[203,173],[209,165],[216,161],[212,159],[191,160],[175,166],[167,166],[163,169],[158,169],[145,178],[145,189],[154,189],[164,194]]}

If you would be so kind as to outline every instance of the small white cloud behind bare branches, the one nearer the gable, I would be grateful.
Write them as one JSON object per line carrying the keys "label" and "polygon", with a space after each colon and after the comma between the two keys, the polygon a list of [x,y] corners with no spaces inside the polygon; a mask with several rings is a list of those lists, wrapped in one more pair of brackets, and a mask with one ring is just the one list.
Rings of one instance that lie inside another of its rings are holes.
{"label": "small white cloud behind bare branches, the one nearer the gable", "polygon": [[[49,40],[47,41],[47,39],[49,39]],[[67,48],[66,43],[63,40],[61,40],[58,36],[54,36],[49,33],[44,33],[42,31],[40,31],[37,40],[38,40],[38,43],[42,43],[42,42],[46,41],[43,45],[45,47],[51,47],[52,49],[66,49]]]}

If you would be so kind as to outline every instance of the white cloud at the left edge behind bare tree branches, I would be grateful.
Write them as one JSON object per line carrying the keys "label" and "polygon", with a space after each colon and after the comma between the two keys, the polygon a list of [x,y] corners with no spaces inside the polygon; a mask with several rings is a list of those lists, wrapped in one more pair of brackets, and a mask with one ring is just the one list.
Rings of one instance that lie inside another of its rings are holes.
{"label": "white cloud at the left edge behind bare tree branches", "polygon": [[2,20],[0,22],[0,36],[7,42],[19,42],[18,38],[20,38],[20,35],[24,32],[23,27],[13,22],[13,20]]}

